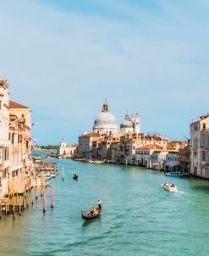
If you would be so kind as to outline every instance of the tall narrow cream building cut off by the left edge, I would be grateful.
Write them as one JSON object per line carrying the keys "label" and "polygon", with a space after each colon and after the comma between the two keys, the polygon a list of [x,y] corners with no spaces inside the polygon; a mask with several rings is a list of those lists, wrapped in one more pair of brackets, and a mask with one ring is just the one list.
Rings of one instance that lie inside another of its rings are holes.
{"label": "tall narrow cream building cut off by the left edge", "polygon": [[8,81],[0,81],[0,198],[8,191]]}

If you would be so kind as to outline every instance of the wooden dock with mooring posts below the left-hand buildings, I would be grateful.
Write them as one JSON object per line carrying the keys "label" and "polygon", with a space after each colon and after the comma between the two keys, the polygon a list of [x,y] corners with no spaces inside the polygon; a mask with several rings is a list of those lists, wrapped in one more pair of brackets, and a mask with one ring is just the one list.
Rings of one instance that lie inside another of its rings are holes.
{"label": "wooden dock with mooring posts below the left-hand buildings", "polygon": [[8,181],[8,193],[0,198],[0,219],[8,214],[21,213],[34,203],[38,194],[42,197],[47,186],[51,185],[45,176],[58,175],[56,163],[35,162],[33,173],[20,174],[19,177]]}

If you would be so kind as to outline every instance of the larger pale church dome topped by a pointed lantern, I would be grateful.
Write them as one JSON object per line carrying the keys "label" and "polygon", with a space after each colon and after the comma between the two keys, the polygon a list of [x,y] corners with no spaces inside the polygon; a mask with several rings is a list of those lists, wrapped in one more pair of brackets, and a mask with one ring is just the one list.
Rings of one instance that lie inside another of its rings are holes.
{"label": "larger pale church dome topped by a pointed lantern", "polygon": [[108,136],[118,135],[118,125],[114,115],[109,111],[107,99],[103,103],[102,112],[97,115],[94,121],[93,132],[107,134]]}

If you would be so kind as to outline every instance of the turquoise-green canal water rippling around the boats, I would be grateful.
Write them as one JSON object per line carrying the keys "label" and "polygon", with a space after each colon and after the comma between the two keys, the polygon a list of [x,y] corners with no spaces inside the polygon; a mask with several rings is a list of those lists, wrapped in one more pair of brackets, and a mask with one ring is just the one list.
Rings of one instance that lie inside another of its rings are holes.
{"label": "turquoise-green canal water rippling around the boats", "polygon": [[[46,160],[46,159],[45,159]],[[209,255],[209,182],[165,177],[140,167],[52,159],[54,209],[41,198],[0,220],[0,255]],[[64,181],[62,181],[62,168]],[[74,181],[74,172],[79,180]],[[162,190],[175,183],[179,192]],[[81,219],[102,198],[97,220]]]}

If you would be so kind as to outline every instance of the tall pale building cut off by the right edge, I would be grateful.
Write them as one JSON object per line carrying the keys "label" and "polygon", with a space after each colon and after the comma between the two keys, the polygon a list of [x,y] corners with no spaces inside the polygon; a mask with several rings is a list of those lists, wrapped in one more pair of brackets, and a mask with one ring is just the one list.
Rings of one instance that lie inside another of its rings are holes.
{"label": "tall pale building cut off by the right edge", "polygon": [[209,179],[209,114],[190,124],[190,174]]}

